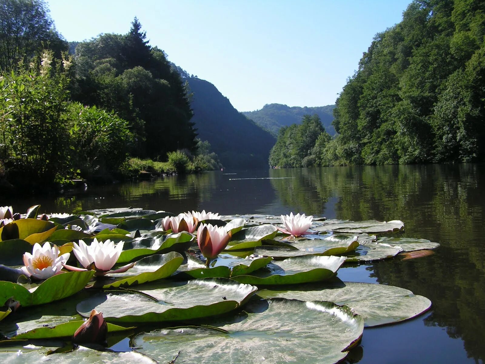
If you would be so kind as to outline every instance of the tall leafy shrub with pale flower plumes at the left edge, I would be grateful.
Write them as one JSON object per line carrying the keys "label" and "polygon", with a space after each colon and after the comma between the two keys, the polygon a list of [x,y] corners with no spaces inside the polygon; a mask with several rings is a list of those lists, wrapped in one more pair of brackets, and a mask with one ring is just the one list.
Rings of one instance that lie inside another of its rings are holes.
{"label": "tall leafy shrub with pale flower plumes at the left edge", "polygon": [[20,184],[51,184],[69,174],[68,59],[51,66],[44,52],[39,67],[3,73],[0,81],[0,156]]}

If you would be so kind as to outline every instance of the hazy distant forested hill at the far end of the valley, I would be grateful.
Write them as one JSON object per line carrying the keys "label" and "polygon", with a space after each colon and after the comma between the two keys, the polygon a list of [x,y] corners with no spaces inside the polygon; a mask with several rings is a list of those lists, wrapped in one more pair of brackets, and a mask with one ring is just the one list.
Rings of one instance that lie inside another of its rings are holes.
{"label": "hazy distant forested hill at the far end of the valley", "polygon": [[262,109],[256,111],[244,111],[242,114],[254,120],[256,124],[270,131],[273,135],[278,135],[278,131],[283,126],[300,124],[304,115],[318,115],[325,130],[335,134],[332,125],[333,109],[335,105],[317,107],[287,106],[282,104],[266,104]]}

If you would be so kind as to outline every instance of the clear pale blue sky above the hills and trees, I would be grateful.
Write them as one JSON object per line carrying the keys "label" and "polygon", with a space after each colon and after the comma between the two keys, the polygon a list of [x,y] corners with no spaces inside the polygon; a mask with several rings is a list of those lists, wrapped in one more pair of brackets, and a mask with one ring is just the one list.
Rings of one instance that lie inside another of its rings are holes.
{"label": "clear pale blue sky above the hills and trees", "polygon": [[67,41],[129,32],[213,83],[238,111],[334,104],[376,33],[411,0],[49,0]]}

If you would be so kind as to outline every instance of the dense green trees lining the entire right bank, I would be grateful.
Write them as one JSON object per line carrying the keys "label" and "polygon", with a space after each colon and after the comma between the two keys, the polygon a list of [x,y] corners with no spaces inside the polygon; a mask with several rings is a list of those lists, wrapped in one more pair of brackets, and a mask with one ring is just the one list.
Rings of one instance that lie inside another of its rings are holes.
{"label": "dense green trees lining the entire right bank", "polygon": [[484,36],[484,1],[413,1],[399,24],[375,36],[340,93],[336,138],[282,129],[270,164],[483,161]]}

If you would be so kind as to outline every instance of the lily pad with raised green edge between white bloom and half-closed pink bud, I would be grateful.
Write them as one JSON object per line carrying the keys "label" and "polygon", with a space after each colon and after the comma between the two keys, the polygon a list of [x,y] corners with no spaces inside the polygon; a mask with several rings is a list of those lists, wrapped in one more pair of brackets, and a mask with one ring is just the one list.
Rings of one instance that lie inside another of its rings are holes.
{"label": "lily pad with raised green edge between white bloom and half-closed pink bud", "polygon": [[[130,263],[135,262],[141,258],[153,254],[165,254],[170,251],[183,252],[190,247],[194,240],[194,235],[187,232],[179,232],[177,234],[162,235],[160,238],[150,239],[150,248],[131,248],[123,250],[116,263]],[[137,241],[133,241],[135,245]],[[124,248],[127,248],[125,246]]]}

